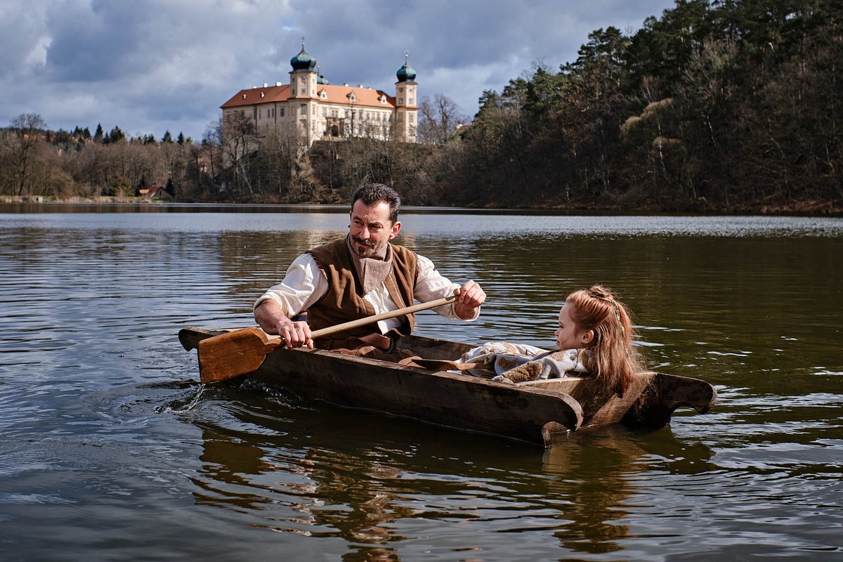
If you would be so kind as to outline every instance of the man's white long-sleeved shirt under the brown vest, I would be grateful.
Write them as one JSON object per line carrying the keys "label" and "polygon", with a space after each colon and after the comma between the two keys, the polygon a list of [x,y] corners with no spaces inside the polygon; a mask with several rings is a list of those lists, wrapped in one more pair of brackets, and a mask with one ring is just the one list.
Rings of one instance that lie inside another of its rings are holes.
{"label": "man's white long-sleeved shirt under the brown vest", "polygon": [[[418,275],[416,276],[416,286],[413,287],[413,296],[416,300],[429,302],[453,295],[454,289],[459,288],[459,285],[443,277],[436,270],[431,260],[418,254],[416,254],[416,257],[418,258],[418,264],[416,265]],[[315,302],[325,296],[326,292],[328,292],[328,278],[325,277],[325,273],[319,269],[313,255],[301,254],[287,268],[287,275],[284,276],[284,279],[276,286],[271,286],[255,301],[255,308],[260,302],[272,299],[281,305],[282,313],[289,318],[293,318],[296,314],[313,306]],[[372,304],[376,314],[400,308],[389,297],[389,292],[383,283],[363,298]],[[433,312],[452,320],[462,319],[454,313],[453,303],[433,308]],[[470,320],[475,320],[479,315],[480,308],[476,308],[474,317]],[[386,334],[389,329],[398,326],[400,326],[400,318],[389,318],[378,322],[381,334]]]}

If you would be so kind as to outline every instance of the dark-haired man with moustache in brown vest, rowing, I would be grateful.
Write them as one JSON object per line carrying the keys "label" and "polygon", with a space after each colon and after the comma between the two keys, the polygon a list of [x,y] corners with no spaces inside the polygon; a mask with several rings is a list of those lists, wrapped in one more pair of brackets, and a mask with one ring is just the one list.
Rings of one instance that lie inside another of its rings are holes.
{"label": "dark-haired man with moustache in brown vest, rowing", "polygon": [[[282,336],[287,347],[320,349],[374,348],[384,353],[410,335],[414,314],[380,320],[338,334],[311,338],[323,329],[357,318],[457,295],[434,308],[446,318],[474,320],[486,301],[475,281],[448,281],[432,261],[390,240],[401,223],[399,195],[387,185],[368,184],[352,196],[351,224],[345,238],[309,250],[293,261],[287,275],[255,302],[255,320],[267,334]],[[295,318],[307,311],[307,321]]]}

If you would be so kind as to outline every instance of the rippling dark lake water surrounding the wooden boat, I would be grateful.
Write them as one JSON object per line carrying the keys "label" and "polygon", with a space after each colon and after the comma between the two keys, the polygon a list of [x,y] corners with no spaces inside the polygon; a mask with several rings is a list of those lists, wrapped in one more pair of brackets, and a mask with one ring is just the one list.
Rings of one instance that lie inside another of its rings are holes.
{"label": "rippling dark lake water surrounding the wooden boat", "polygon": [[520,442],[203,387],[185,325],[253,325],[344,207],[0,206],[0,559],[696,560],[843,554],[843,219],[405,209],[488,295],[417,333],[550,347],[612,287],[653,369],[716,386],[658,431]]}

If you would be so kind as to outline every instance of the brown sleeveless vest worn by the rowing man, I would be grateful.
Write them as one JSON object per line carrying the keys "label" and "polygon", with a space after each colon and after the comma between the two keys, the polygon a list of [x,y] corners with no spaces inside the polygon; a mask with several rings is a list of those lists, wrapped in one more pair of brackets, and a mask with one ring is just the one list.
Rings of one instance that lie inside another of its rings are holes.
{"label": "brown sleeveless vest worn by the rowing man", "polygon": [[[399,308],[409,307],[414,302],[416,253],[395,244],[391,244],[391,247],[392,270],[384,285],[389,297]],[[308,309],[310,329],[328,328],[375,313],[372,304],[363,298],[362,283],[357,278],[357,268],[352,261],[346,238],[323,244],[310,250],[309,254],[314,256],[319,269],[328,278],[328,292]],[[416,315],[407,314],[399,317],[399,320],[400,328],[395,331],[398,335],[410,335],[416,326]],[[357,338],[373,332],[380,333],[375,324],[358,326],[314,340],[314,344],[320,349],[336,349],[346,346],[346,338]]]}

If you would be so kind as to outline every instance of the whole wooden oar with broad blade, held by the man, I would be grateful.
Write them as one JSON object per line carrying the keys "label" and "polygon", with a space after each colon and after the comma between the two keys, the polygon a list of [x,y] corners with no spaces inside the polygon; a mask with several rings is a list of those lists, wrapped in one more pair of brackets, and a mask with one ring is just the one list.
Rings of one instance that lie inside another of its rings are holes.
{"label": "whole wooden oar with broad blade, held by the man", "polygon": [[[345,329],[365,326],[379,320],[417,313],[428,308],[441,307],[448,302],[454,302],[456,298],[456,295],[451,295],[436,301],[422,302],[411,307],[358,318],[329,328],[317,329],[311,337],[315,340],[323,335],[336,334]],[[266,359],[266,354],[279,345],[284,345],[284,340],[280,336],[268,335],[260,328],[238,329],[228,332],[228,334],[215,335],[207,340],[201,340],[197,351],[201,382],[216,383],[255,371]]]}

